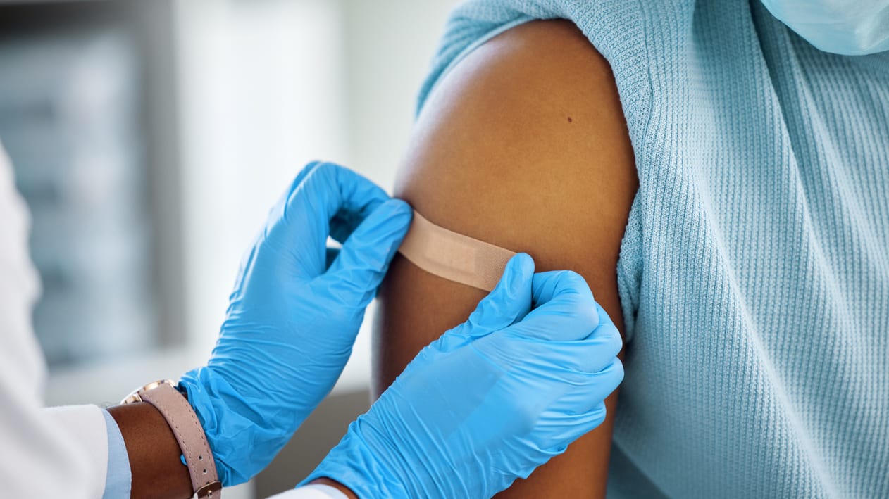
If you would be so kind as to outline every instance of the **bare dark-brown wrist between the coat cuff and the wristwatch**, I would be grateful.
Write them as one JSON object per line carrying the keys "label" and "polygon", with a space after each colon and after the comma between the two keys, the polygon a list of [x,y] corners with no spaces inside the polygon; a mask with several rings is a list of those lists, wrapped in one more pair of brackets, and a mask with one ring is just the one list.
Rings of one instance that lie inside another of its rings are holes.
{"label": "bare dark-brown wrist between the coat cuff and the wristwatch", "polygon": [[108,408],[124,436],[132,499],[191,497],[188,467],[164,416],[146,402]]}

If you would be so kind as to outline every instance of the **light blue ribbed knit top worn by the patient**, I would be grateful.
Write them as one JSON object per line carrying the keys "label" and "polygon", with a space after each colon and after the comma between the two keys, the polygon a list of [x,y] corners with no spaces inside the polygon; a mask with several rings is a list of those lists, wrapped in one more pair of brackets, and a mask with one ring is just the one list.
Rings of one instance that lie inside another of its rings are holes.
{"label": "light blue ribbed knit top worn by the patient", "polygon": [[818,51],[755,0],[477,0],[420,107],[548,18],[611,63],[640,184],[609,496],[889,497],[889,53]]}

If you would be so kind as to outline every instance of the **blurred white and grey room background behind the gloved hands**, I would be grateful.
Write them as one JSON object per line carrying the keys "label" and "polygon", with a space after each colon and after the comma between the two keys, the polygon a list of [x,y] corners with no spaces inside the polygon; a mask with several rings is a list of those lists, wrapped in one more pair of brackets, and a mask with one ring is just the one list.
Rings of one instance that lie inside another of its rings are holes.
{"label": "blurred white and grey room background behind the gloved hands", "polygon": [[[48,402],[114,403],[203,363],[304,163],[390,187],[456,3],[0,0],[0,142],[32,211]],[[332,397],[228,496],[292,487],[366,408],[369,373],[365,327]]]}

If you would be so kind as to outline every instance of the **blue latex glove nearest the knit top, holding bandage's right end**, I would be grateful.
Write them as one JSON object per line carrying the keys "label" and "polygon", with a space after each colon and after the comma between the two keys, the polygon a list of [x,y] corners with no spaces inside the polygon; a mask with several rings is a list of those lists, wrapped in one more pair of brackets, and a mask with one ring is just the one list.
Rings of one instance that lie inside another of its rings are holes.
{"label": "blue latex glove nearest the knit top, holding bandage's right end", "polygon": [[533,274],[519,254],[303,483],[334,479],[362,499],[491,497],[605,420],[620,350],[580,275]]}

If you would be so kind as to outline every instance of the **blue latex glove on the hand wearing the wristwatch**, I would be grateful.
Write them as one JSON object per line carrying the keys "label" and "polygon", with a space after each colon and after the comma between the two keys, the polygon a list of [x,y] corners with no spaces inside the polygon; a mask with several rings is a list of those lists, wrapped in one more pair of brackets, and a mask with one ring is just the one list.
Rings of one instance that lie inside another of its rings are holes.
{"label": "blue latex glove on the hand wearing the wristwatch", "polygon": [[[244,257],[212,357],[180,380],[225,486],[250,479],[346,365],[410,206],[330,163],[309,164]],[[343,242],[328,268],[327,236]]]}

